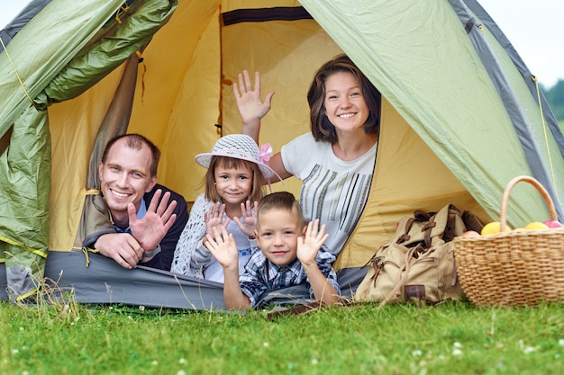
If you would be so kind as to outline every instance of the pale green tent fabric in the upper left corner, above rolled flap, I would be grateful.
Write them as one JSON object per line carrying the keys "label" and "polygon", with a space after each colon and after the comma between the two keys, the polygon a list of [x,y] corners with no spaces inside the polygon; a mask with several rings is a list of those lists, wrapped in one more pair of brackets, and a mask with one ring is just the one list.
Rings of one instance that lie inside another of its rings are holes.
{"label": "pale green tent fabric in the upper left corner, above rolled flap", "polygon": [[77,6],[70,0],[51,1],[14,36],[0,54],[0,86],[5,93],[0,97],[5,109],[0,112],[0,135],[122,4],[85,0]]}

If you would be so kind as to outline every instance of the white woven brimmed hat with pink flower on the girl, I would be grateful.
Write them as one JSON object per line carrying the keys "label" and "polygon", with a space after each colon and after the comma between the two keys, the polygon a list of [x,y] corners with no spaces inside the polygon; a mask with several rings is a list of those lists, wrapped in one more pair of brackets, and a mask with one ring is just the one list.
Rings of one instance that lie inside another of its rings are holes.
{"label": "white woven brimmed hat with pink flower on the girl", "polygon": [[259,146],[253,138],[245,134],[230,134],[219,138],[215,142],[212,152],[196,155],[196,163],[207,168],[212,162],[212,156],[227,156],[250,161],[259,165],[260,172],[266,180],[269,180],[275,174],[280,181],[282,180],[272,168],[261,161],[261,159],[268,161],[269,156],[261,158]]}

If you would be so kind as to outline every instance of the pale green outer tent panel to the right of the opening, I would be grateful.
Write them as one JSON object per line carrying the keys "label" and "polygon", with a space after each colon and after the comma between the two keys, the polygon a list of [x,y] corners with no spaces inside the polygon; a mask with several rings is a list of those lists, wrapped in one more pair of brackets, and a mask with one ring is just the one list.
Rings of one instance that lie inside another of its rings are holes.
{"label": "pale green outer tent panel to the right of the opening", "polygon": [[[511,107],[505,109],[495,79],[489,76],[479,51],[469,42],[466,22],[461,22],[453,10],[463,6],[468,11],[463,2],[427,0],[392,6],[366,0],[349,6],[346,0],[331,4],[303,0],[302,4],[492,219],[499,214],[505,184],[515,175],[538,172],[539,168],[532,168],[524,157],[526,149],[508,113]],[[378,22],[369,22],[374,14],[378,14]],[[496,40],[491,42],[499,58],[504,58]],[[531,94],[525,93],[523,79],[515,79],[519,76],[517,68],[506,56],[503,67],[496,59],[487,62],[496,65],[490,69],[505,81],[499,90],[514,97],[513,111],[526,109],[534,125],[525,147],[534,145],[543,150],[544,156],[536,156],[548,165],[548,152],[539,137],[541,112]],[[564,160],[553,138],[550,143],[550,169],[556,183],[546,174],[539,180],[555,192],[555,185],[564,186]],[[553,199],[562,212],[559,202],[564,200],[564,191],[559,194]],[[547,212],[541,196],[526,189],[516,190],[508,218],[526,221],[531,212]]]}

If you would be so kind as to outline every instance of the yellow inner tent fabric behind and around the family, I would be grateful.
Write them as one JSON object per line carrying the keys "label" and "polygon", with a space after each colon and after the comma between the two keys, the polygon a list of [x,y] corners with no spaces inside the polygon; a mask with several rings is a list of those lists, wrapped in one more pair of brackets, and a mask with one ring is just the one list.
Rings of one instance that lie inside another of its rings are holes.
{"label": "yellow inner tent fabric behind and around the family", "polygon": [[[237,11],[241,5],[249,8],[243,3],[228,2],[220,10],[214,2],[181,2],[142,53],[128,131],[141,132],[162,149],[159,182],[182,193],[187,201],[200,192],[205,173],[194,163],[194,156],[208,152],[222,134],[241,131],[232,83],[242,69],[261,73],[263,94],[275,91],[260,142],[279,150],[309,131],[307,87],[317,67],[342,52],[313,19],[227,26],[218,22],[220,12]],[[84,145],[93,144],[122,71],[117,69],[77,99],[50,108],[54,165],[51,250],[72,247],[85,194],[89,148]],[[215,126],[218,123],[222,129]],[[396,221],[414,210],[438,210],[446,202],[455,202],[487,218],[458,179],[387,102],[381,137],[371,214],[357,231],[366,236],[355,236],[338,268],[364,265],[378,243],[393,233]],[[405,143],[407,139],[409,143]],[[401,151],[405,149],[410,151]],[[423,156],[428,157],[428,166],[414,165],[414,160]],[[273,187],[299,194],[295,179]]]}

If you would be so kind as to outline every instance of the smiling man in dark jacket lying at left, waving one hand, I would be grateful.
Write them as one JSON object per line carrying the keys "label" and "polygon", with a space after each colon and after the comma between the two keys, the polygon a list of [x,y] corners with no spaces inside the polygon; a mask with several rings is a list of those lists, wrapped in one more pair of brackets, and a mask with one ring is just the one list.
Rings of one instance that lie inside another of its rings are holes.
{"label": "smiling man in dark jacket lying at left, waving one hand", "polygon": [[169,271],[188,220],[184,197],[157,184],[159,157],[149,139],[125,134],[108,142],[98,164],[100,191],[115,230],[90,237],[85,245],[123,268],[141,264]]}

